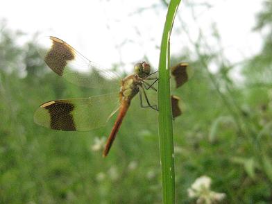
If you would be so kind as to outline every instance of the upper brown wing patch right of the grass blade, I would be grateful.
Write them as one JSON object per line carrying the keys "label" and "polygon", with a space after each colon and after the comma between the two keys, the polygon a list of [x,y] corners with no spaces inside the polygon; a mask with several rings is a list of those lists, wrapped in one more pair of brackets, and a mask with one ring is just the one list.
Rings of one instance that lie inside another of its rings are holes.
{"label": "upper brown wing patch right of the grass blade", "polygon": [[189,78],[188,73],[187,73],[187,63],[180,63],[174,67],[171,67],[171,74],[176,80],[176,88],[182,86],[185,84]]}

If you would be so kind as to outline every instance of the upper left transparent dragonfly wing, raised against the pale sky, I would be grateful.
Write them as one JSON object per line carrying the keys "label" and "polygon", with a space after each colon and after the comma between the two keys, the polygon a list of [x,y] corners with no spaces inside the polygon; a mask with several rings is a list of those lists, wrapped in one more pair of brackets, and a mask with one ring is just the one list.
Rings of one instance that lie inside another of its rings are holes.
{"label": "upper left transparent dragonfly wing, raised against the pale sky", "polygon": [[102,69],[58,37],[43,37],[39,43],[38,51],[46,65],[70,83],[101,88],[109,82],[117,82],[120,78],[116,72]]}

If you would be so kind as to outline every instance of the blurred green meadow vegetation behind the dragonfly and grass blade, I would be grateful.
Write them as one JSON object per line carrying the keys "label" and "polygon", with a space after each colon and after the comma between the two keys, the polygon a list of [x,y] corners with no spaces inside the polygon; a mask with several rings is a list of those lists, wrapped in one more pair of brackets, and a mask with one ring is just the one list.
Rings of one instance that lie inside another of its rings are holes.
{"label": "blurred green meadow vegetation behind the dragonfly and grass blade", "polygon": [[[174,121],[177,203],[194,203],[187,189],[203,175],[226,193],[226,203],[272,201],[272,3],[265,2],[255,25],[266,31],[264,43],[253,58],[233,64],[201,35],[193,49],[172,58],[194,68],[174,91],[184,110]],[[32,40],[18,45],[24,33],[4,23],[0,32],[0,203],[160,203],[156,113],[135,100],[106,159],[97,138],[108,136],[114,119],[86,133],[37,126],[40,103],[93,91],[50,71]],[[214,40],[220,44],[216,28]],[[237,67],[243,80],[232,77]]]}

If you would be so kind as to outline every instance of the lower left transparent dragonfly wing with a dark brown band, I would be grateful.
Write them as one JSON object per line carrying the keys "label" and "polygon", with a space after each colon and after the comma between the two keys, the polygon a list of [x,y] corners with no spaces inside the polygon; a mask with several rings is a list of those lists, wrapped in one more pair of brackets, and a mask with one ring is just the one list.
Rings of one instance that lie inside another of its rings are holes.
{"label": "lower left transparent dragonfly wing with a dark brown band", "polygon": [[118,92],[83,99],[49,101],[36,110],[34,121],[55,130],[93,130],[105,126],[117,105]]}

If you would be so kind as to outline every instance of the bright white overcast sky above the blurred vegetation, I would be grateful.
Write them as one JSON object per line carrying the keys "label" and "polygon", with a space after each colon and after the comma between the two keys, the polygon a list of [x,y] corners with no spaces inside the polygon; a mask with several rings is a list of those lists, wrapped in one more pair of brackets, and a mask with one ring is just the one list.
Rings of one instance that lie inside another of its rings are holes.
{"label": "bright white overcast sky above the blurred vegetation", "polygon": [[[186,2],[193,2],[187,0]],[[200,1],[194,0],[200,3]],[[204,2],[204,1],[202,1]],[[215,22],[223,41],[226,56],[232,61],[243,60],[260,50],[262,39],[252,33],[255,14],[262,9],[261,0],[207,0],[210,10],[196,10],[197,24],[192,20],[191,9],[181,2],[178,14],[196,40],[198,26],[205,35],[210,34],[210,24]],[[29,34],[55,35],[74,46],[87,58],[103,67],[124,62],[126,69],[134,62],[148,57],[151,65],[158,66],[160,40],[167,10],[141,8],[160,5],[153,0],[93,0],[93,1],[37,1],[1,0],[0,19],[8,27]],[[188,43],[176,30],[176,19],[171,38],[171,53],[178,55]],[[207,42],[213,44],[207,37]],[[216,49],[216,44],[214,49]],[[218,48],[217,48],[218,49]]]}

